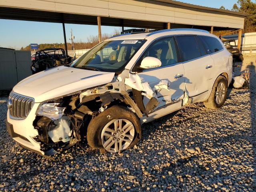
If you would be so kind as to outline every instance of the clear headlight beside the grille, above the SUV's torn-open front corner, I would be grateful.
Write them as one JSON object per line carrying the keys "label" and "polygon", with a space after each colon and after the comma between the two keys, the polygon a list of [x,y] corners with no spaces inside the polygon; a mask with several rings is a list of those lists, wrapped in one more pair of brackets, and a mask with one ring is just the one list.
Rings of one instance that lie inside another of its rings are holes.
{"label": "clear headlight beside the grille, above the SUV's torn-open front corner", "polygon": [[58,107],[60,103],[46,103],[42,104],[37,110],[36,114],[46,116],[52,120],[61,118],[64,115],[66,107]]}

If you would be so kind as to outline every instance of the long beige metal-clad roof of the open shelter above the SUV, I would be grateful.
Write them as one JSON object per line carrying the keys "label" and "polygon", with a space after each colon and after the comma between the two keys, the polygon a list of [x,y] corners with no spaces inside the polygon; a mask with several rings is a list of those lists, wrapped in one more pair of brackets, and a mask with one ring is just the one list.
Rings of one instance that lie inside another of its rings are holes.
{"label": "long beige metal-clad roof of the open shelter above the SUV", "polygon": [[[8,0],[0,2],[0,6],[33,10],[35,12],[35,17],[38,15],[36,15],[37,10],[64,13],[66,17],[66,20],[64,17],[64,22],[72,23],[75,20],[73,16],[88,15],[88,17],[102,16],[110,19],[113,18],[114,20],[116,19],[116,23],[118,23],[118,18],[122,18],[126,19],[127,22],[128,20],[138,20],[159,22],[161,25],[163,22],[171,22],[194,26],[216,26],[238,29],[244,27],[243,16],[224,14],[209,10],[196,10],[151,0],[144,0],[141,2],[135,0]],[[19,13],[16,13],[15,15],[17,14]],[[8,12],[6,12],[5,15],[8,15]],[[45,15],[44,21],[49,22],[56,17],[56,22],[60,22],[62,20],[61,16],[61,14],[51,15],[50,18],[48,18],[47,15]],[[4,15],[2,17],[5,18]],[[20,18],[27,17],[28,16],[20,13]],[[30,20],[31,18],[27,19]],[[52,20],[51,22],[54,22]],[[96,20],[94,19],[91,22],[88,21],[88,24],[95,22]],[[102,23],[102,25],[104,24]],[[128,26],[131,26],[131,24],[129,23]],[[158,26],[158,28],[159,27],[160,26]]]}

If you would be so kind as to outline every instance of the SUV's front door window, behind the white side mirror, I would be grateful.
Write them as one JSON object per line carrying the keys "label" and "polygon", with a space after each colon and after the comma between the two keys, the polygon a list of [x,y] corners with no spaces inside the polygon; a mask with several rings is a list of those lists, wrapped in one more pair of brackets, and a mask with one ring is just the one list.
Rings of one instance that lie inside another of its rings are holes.
{"label": "SUV's front door window, behind the white side mirror", "polygon": [[132,69],[133,72],[140,71],[138,70],[138,67],[140,66],[142,60],[146,57],[158,58],[162,62],[161,66],[167,66],[177,63],[178,58],[174,44],[174,39],[166,38],[154,42],[138,60],[135,67]]}

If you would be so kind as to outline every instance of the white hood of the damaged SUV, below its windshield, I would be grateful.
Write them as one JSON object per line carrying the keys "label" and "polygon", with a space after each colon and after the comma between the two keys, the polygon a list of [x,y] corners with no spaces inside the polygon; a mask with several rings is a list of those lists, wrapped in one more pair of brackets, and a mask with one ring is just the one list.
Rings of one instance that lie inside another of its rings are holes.
{"label": "white hood of the damaged SUV, below its windshield", "polygon": [[60,66],[29,76],[13,91],[43,102],[52,98],[110,83],[114,72],[101,72]]}

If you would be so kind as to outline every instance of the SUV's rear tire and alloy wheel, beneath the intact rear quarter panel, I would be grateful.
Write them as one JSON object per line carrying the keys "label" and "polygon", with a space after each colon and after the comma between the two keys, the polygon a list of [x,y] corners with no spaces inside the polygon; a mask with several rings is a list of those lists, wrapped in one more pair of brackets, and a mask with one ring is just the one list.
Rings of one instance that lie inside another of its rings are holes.
{"label": "SUV's rear tire and alloy wheel, beneath the intact rear quarter panel", "polygon": [[[223,86],[223,87],[222,87]],[[227,99],[228,82],[224,76],[218,76],[209,98],[204,102],[204,106],[210,109],[221,108]],[[221,94],[221,96],[219,96]]]}

